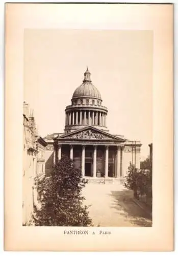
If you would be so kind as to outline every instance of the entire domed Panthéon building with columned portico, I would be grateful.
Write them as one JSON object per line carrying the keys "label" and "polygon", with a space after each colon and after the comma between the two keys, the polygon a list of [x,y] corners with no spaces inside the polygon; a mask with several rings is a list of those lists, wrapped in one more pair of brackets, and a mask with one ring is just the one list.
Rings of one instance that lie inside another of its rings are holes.
{"label": "entire domed Panth\u00e9on building with columned portico", "polygon": [[[126,176],[130,162],[140,168],[140,141],[131,141],[121,135],[112,135],[107,127],[108,109],[103,106],[98,89],[91,81],[87,68],[83,83],[75,89],[71,104],[65,109],[63,134],[47,135],[46,172],[62,154],[82,169],[83,177]],[[49,161],[53,151],[53,163]]]}

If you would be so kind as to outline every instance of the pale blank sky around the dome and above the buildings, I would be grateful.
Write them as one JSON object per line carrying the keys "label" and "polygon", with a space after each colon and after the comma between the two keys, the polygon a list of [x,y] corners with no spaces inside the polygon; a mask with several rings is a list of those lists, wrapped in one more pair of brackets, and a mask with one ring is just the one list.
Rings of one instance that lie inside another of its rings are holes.
{"label": "pale blank sky around the dome and above the buildings", "polygon": [[24,101],[34,110],[41,137],[62,133],[65,108],[91,80],[108,108],[111,134],[152,142],[153,34],[144,30],[24,30]]}

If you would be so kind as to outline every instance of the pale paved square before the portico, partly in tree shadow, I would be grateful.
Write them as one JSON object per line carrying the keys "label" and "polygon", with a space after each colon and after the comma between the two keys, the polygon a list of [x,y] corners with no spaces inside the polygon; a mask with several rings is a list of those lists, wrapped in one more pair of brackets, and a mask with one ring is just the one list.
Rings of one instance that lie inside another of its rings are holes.
{"label": "pale paved square before the portico, partly in tree shadow", "polygon": [[85,204],[94,226],[150,227],[151,219],[135,202],[133,193],[121,184],[86,184]]}

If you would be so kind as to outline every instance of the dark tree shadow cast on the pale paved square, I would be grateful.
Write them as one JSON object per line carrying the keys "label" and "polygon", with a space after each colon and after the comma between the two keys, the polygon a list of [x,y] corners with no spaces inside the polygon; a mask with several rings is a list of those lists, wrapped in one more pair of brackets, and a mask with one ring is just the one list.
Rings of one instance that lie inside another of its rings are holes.
{"label": "dark tree shadow cast on the pale paved square", "polygon": [[112,204],[112,208],[118,211],[119,215],[129,219],[134,225],[141,227],[151,227],[152,219],[133,201],[133,191],[122,190],[122,191],[111,191],[110,194],[114,197],[115,202]]}

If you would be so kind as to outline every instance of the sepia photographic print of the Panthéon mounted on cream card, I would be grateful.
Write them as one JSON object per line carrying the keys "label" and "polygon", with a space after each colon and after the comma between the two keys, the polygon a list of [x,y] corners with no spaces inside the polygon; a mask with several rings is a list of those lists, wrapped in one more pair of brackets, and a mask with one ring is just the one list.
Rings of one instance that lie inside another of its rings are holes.
{"label": "sepia photographic print of the Panth\u00e9on mounted on cream card", "polygon": [[24,30],[23,225],[152,225],[152,46]]}

